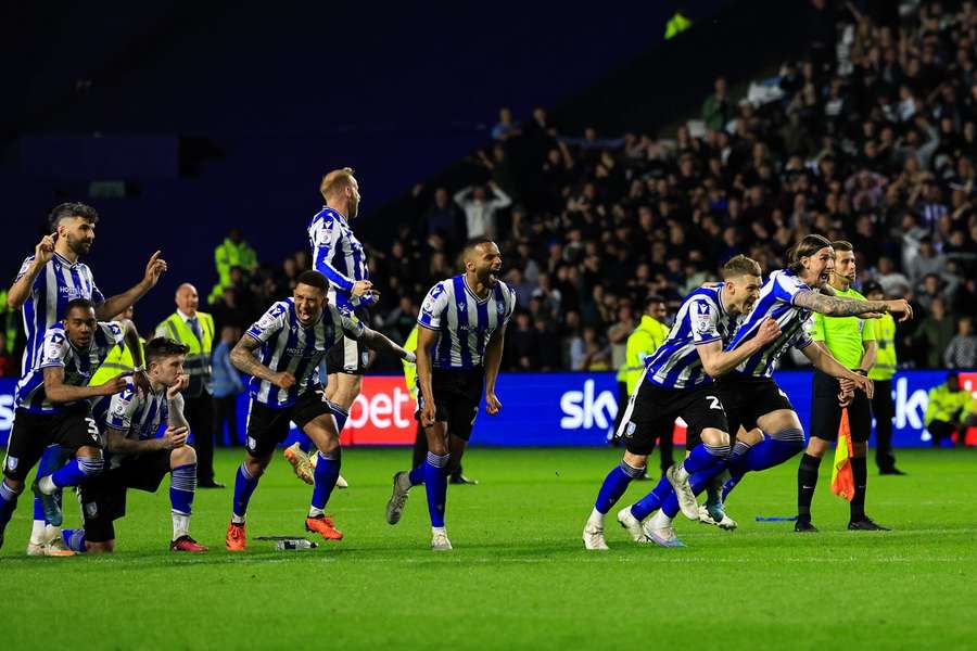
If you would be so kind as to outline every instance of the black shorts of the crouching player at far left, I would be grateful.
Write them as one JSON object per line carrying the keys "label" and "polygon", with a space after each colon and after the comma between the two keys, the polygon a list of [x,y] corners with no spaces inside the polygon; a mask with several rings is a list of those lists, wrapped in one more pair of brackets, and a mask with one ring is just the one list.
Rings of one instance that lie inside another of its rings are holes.
{"label": "black shorts of the crouching player at far left", "polygon": [[87,401],[66,407],[59,413],[31,413],[17,409],[7,443],[3,474],[23,482],[49,445],[59,444],[73,452],[83,446],[101,448],[102,438],[89,412]]}

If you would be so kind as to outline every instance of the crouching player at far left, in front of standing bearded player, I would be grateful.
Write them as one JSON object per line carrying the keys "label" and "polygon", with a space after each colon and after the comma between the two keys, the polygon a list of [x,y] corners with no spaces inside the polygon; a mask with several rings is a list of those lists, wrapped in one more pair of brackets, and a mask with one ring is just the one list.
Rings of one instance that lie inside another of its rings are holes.
{"label": "crouching player at far left, in front of standing bearded player", "polygon": [[[102,471],[102,444],[89,416],[89,398],[118,393],[126,381],[117,375],[104,384],[88,386],[89,379],[123,340],[132,358],[142,362],[139,335],[131,323],[124,333],[118,323],[96,321],[94,305],[87,298],[68,302],[65,314],[63,323],[45,332],[30,372],[17,383],[14,426],[3,464],[5,478],[0,483],[0,545],[17,496],[24,489],[24,480],[46,447],[58,444],[67,448],[74,459],[39,476],[35,481],[36,494],[51,496],[59,488],[77,486]],[[46,500],[45,516],[61,525],[58,500]],[[38,553],[30,549],[28,552]]]}

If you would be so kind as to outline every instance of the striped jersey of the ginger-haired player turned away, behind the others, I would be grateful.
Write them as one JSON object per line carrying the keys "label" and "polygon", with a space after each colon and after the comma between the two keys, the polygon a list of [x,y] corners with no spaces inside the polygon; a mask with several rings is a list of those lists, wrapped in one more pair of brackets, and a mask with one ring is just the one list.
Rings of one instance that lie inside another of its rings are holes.
{"label": "striped jersey of the ginger-haired player turned away, behind the others", "polygon": [[372,299],[353,296],[357,280],[369,280],[366,253],[342,215],[323,207],[308,225],[308,241],[313,250],[313,267],[329,279],[329,303],[346,311]]}

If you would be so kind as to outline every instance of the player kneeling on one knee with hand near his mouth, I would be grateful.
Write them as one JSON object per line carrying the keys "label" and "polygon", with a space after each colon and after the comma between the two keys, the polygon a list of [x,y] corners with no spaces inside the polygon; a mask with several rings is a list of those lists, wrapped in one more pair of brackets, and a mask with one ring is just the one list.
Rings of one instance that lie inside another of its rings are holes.
{"label": "player kneeling on one knee with hand near his mouth", "polygon": [[[64,529],[74,551],[115,551],[113,522],[126,514],[126,492],[155,493],[167,474],[173,512],[170,551],[207,551],[190,537],[190,512],[196,489],[196,452],[187,445],[189,426],[183,396],[190,376],[183,373],[188,346],[167,337],[145,345],[149,391],[127,379],[122,393],[100,399],[92,410],[105,439],[105,472],[81,486],[84,529]],[[166,431],[156,436],[162,424]]]}

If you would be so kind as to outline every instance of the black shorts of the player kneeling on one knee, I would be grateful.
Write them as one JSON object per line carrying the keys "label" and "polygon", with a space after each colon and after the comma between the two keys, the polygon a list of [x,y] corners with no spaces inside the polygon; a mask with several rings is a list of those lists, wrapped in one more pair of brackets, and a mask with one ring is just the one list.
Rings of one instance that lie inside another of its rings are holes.
{"label": "black shorts of the player kneeling on one knee", "polygon": [[156,450],[127,458],[118,468],[103,472],[81,484],[81,516],[85,538],[92,542],[115,539],[112,523],[126,514],[126,490],[136,488],[155,493],[169,474],[170,450]]}

